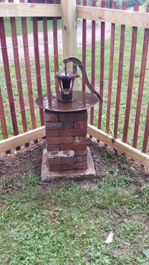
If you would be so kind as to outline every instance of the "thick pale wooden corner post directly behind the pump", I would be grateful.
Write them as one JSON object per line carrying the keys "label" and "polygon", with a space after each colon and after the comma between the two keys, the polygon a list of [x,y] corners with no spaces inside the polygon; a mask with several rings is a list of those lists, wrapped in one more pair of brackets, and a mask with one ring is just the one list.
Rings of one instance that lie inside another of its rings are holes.
{"label": "thick pale wooden corner post directly behind the pump", "polygon": [[[77,56],[77,18],[76,0],[61,0],[62,45],[63,59]],[[67,64],[67,70],[72,70],[72,64]],[[74,83],[77,89],[77,82]]]}

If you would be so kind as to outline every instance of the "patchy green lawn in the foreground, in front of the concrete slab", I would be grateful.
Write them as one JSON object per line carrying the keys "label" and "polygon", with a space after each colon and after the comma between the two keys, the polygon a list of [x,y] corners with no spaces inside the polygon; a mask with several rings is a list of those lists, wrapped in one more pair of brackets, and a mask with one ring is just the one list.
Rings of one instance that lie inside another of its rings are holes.
{"label": "patchy green lawn in the foreground, in front of the concrete slab", "polygon": [[[26,174],[1,178],[0,264],[148,264],[146,177],[124,156],[88,145],[93,182],[41,183],[40,162]],[[14,166],[41,147],[18,152]]]}

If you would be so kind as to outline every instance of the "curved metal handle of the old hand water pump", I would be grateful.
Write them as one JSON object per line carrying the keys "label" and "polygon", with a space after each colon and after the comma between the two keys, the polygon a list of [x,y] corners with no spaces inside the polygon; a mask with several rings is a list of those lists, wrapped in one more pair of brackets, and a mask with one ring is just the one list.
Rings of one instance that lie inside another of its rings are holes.
{"label": "curved metal handle of the old hand water pump", "polygon": [[85,68],[84,68],[84,66],[83,66],[83,64],[82,64],[82,62],[81,62],[79,59],[77,59],[76,57],[68,57],[68,58],[66,58],[66,59],[63,60],[63,63],[65,63],[65,64],[66,64],[66,63],[70,63],[70,62],[73,63],[73,73],[77,73],[77,66],[79,66],[79,68],[80,68],[80,70],[81,70],[81,73],[82,73],[82,75],[83,75],[83,79],[84,79],[84,81],[86,82],[87,87],[91,90],[91,92],[92,92],[93,94],[95,94],[95,95],[97,96],[97,98],[98,98],[101,102],[103,102],[103,100],[102,100],[100,94],[99,94],[99,93],[93,88],[93,86],[91,85],[91,83],[90,83],[90,81],[89,81],[89,79],[88,79],[88,76],[87,76],[86,70],[85,70]]}

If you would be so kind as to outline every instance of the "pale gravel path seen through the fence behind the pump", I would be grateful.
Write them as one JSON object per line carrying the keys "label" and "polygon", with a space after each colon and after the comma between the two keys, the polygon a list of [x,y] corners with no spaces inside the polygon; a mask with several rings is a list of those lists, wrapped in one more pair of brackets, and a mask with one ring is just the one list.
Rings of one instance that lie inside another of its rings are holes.
{"label": "pale gravel path seen through the fence behind the pump", "polygon": [[[105,23],[105,37],[110,36],[111,24]],[[62,32],[61,29],[58,29],[58,52],[62,52]],[[48,31],[48,40],[49,40],[49,54],[53,54],[53,31]],[[96,27],[96,40],[100,40],[100,24]],[[34,58],[34,43],[33,43],[33,33],[28,34],[29,41],[29,53],[30,58]],[[44,57],[44,45],[43,45],[43,33],[38,32],[38,41],[39,41],[39,53],[40,57]],[[91,44],[92,41],[92,22],[87,21],[87,44]],[[11,37],[6,37],[7,42],[7,50],[8,50],[8,58],[9,62],[13,63],[13,48],[12,48],[12,39]],[[23,48],[23,38],[22,35],[17,36],[18,42],[18,51],[19,51],[19,60],[24,61],[24,48]],[[77,43],[78,47],[81,46],[82,43],[82,23],[78,22],[77,28]],[[1,48],[1,45],[0,45]],[[2,58],[2,50],[0,51],[0,64],[3,64]]]}

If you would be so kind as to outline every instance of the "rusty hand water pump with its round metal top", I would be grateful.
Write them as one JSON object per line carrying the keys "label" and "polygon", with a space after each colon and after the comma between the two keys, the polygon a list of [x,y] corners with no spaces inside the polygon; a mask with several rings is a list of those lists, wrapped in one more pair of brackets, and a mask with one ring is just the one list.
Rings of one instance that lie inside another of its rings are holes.
{"label": "rusty hand water pump with its round metal top", "polygon": [[[73,71],[67,71],[67,63],[73,63]],[[86,70],[82,62],[75,58],[69,57],[63,60],[65,63],[65,71],[56,72],[55,76],[59,81],[61,91],[56,93],[48,93],[36,99],[36,104],[40,108],[48,109],[51,111],[79,111],[91,108],[98,103],[102,98],[100,94],[93,88],[87,77]],[[78,78],[77,66],[79,66],[83,80],[91,90],[91,93],[84,91],[73,91],[75,78]]]}

